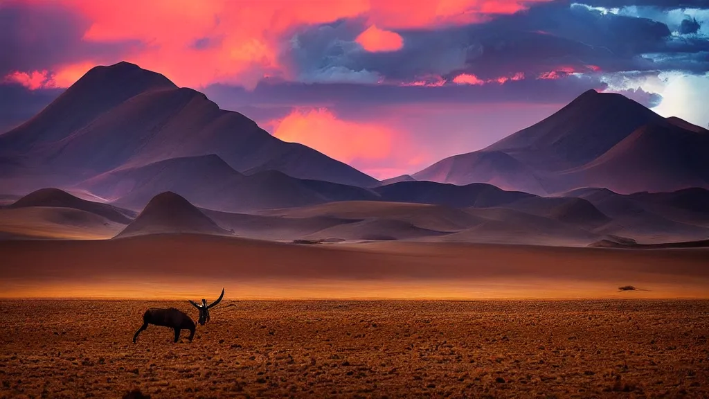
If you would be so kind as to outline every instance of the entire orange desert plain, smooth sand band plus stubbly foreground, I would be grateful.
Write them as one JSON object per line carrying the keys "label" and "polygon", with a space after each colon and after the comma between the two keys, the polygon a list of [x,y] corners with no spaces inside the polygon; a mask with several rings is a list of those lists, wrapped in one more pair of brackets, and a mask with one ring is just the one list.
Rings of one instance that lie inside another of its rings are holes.
{"label": "entire orange desert plain, smooth sand band plus stubbly foreground", "polygon": [[[709,395],[705,248],[154,234],[0,253],[0,398]],[[196,320],[186,299],[221,288],[194,341],[133,344],[148,307]]]}

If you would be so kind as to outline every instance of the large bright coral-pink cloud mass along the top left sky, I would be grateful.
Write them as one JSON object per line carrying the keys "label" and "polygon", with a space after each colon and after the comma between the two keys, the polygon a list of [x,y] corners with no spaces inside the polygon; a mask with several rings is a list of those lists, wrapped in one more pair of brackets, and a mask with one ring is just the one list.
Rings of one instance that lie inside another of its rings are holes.
{"label": "large bright coral-pink cloud mass along the top left sky", "polygon": [[[30,6],[45,4],[27,1]],[[123,53],[82,53],[69,62],[62,59],[61,65],[42,69],[60,72],[69,66],[76,70],[76,65],[126,60],[158,71],[179,86],[227,83],[254,87],[267,75],[294,77],[288,65],[281,65],[279,52],[284,35],[296,26],[364,18],[369,28],[358,42],[369,51],[393,51],[403,46],[401,36],[393,32],[396,28],[479,22],[491,15],[527,9],[535,1],[547,0],[431,0],[414,4],[408,0],[56,0],[54,6],[68,7],[86,21],[82,43],[143,45]],[[196,46],[197,40],[210,45]],[[70,77],[77,75],[67,72],[57,84],[68,85]]]}

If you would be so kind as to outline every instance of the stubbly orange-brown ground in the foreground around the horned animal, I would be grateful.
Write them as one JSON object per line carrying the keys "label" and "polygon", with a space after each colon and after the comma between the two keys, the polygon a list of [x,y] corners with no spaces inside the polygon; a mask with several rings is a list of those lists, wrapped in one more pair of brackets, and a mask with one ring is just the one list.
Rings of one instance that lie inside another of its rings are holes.
{"label": "stubbly orange-brown ground in the foreground around the horned animal", "polygon": [[709,397],[707,301],[3,302],[0,398]]}

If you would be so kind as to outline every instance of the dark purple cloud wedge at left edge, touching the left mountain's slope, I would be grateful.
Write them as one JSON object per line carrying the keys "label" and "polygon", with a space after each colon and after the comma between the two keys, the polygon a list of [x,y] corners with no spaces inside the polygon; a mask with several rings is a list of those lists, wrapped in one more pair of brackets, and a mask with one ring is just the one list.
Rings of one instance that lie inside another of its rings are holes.
{"label": "dark purple cloud wedge at left edge, touching the left mountain's slope", "polygon": [[38,114],[64,89],[30,90],[21,84],[0,84],[0,134]]}

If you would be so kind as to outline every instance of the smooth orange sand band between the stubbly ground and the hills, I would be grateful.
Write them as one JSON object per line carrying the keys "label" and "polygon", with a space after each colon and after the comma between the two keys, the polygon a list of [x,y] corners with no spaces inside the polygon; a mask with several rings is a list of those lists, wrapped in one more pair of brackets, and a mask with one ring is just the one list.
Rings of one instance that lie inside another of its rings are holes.
{"label": "smooth orange sand band between the stubbly ground and the hills", "polygon": [[303,246],[180,234],[4,241],[0,252],[4,297],[160,297],[164,290],[174,297],[213,285],[252,298],[618,297],[617,288],[627,284],[649,290],[636,297],[709,296],[709,253],[700,248],[405,241]]}

